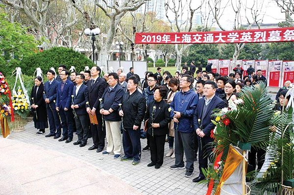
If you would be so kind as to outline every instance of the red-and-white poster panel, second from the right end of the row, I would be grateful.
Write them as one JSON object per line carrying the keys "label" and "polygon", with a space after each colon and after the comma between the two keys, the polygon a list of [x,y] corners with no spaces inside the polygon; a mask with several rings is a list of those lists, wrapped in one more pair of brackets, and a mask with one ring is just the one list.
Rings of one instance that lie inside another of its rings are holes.
{"label": "red-and-white poster panel, second from the right end of the row", "polygon": [[281,85],[283,61],[269,61],[269,87],[279,87]]}

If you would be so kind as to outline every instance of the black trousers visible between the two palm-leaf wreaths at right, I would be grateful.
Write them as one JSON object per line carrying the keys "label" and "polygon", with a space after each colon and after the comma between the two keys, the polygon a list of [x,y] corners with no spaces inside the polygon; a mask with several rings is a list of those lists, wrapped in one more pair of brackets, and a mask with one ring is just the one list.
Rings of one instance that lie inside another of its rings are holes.
{"label": "black trousers visible between the two palm-leaf wreaths at right", "polygon": [[[260,170],[262,168],[262,165],[265,162],[265,155],[266,151],[263,149],[255,149],[251,147],[250,152],[248,152],[248,172],[254,171],[256,169],[256,156],[257,156],[257,170]],[[253,169],[253,170],[250,170]]]}

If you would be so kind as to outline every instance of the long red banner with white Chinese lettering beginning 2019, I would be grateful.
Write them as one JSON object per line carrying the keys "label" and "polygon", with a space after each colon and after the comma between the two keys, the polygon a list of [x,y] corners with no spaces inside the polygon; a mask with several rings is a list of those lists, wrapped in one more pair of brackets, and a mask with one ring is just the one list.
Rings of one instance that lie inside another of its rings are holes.
{"label": "long red banner with white Chinese lettering beginning 2019", "polygon": [[266,43],[294,41],[294,27],[212,32],[136,33],[140,44]]}

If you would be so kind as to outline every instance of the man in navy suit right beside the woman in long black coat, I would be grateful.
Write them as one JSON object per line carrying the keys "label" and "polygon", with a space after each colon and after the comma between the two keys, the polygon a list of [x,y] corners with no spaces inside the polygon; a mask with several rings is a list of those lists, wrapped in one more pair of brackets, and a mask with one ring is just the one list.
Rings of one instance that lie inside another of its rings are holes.
{"label": "man in navy suit right beside the woman in long black coat", "polygon": [[56,100],[57,87],[59,82],[54,79],[55,72],[53,70],[47,71],[48,81],[44,85],[44,94],[43,98],[46,102],[48,121],[50,127],[50,133],[45,135],[45,137],[54,136],[54,139],[57,139],[61,135],[61,124],[58,113],[56,111],[54,100]]}

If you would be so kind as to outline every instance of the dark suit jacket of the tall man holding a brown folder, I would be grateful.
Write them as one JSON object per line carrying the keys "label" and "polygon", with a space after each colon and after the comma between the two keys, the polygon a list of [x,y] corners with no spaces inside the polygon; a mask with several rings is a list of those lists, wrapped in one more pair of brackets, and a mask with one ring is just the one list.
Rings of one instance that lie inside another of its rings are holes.
{"label": "dark suit jacket of the tall man holding a brown folder", "polygon": [[95,83],[91,86],[92,80],[89,80],[87,83],[88,93],[89,93],[89,105],[86,107],[96,108],[96,114],[100,114],[100,102],[99,99],[102,97],[105,90],[106,82],[104,79],[98,77]]}

